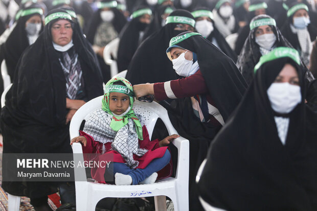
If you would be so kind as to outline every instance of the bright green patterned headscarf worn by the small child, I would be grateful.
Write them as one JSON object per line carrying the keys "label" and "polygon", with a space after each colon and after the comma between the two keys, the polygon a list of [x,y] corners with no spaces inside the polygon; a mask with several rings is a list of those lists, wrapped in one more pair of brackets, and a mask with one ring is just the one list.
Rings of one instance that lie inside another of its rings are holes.
{"label": "bright green patterned headscarf worn by the small child", "polygon": [[[125,86],[121,86],[121,85],[113,85],[115,82],[117,81],[121,81],[125,84]],[[109,108],[109,96],[110,96],[110,92],[120,92],[120,93],[125,93],[127,96],[129,96],[130,98],[130,109],[129,111],[122,115],[122,116],[117,116],[115,114],[113,114]],[[106,111],[107,113],[109,113],[110,115],[112,115],[112,120],[110,123],[110,128],[114,131],[119,131],[122,127],[124,127],[126,124],[128,124],[129,119],[132,119],[134,124],[135,124],[135,130],[137,131],[138,134],[138,138],[140,140],[143,140],[143,131],[142,131],[142,126],[141,123],[139,121],[139,119],[137,118],[137,116],[135,115],[132,107],[133,107],[133,88],[131,83],[126,80],[125,78],[121,78],[121,77],[116,77],[114,79],[111,79],[107,82],[106,86],[105,86],[105,93],[102,99],[102,110]]]}

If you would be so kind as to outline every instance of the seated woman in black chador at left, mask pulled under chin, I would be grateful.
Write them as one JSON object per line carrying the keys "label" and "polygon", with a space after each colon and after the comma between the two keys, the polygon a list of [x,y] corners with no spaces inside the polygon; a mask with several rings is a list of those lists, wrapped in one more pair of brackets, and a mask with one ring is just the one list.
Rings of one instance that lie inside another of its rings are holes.
{"label": "seated woman in black chador at left, mask pulled under chin", "polygon": [[[71,15],[55,9],[34,44],[22,54],[1,112],[4,153],[72,153],[69,122],[85,101],[102,95],[100,70]],[[9,160],[3,168],[10,172]],[[13,173],[12,173],[13,174]],[[31,198],[35,210],[51,210],[56,182],[3,182],[15,196]],[[61,196],[63,203],[63,198]]]}

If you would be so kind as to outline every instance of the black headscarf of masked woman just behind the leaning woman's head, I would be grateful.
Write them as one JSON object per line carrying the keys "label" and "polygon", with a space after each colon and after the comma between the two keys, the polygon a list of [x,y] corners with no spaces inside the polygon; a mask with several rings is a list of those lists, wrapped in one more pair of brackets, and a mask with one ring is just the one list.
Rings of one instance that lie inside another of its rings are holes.
{"label": "black headscarf of masked woman just behind the leaning woman's head", "polygon": [[[193,10],[193,12],[197,11],[197,10],[208,10],[211,12],[211,10],[208,9],[207,7],[197,7],[195,10]],[[195,20],[197,20],[197,18],[195,18]],[[225,41],[224,37],[218,31],[218,29],[215,25],[215,21],[213,19],[211,19],[211,21],[212,21],[212,24],[214,26],[214,30],[210,33],[210,35],[208,37],[206,37],[206,39],[208,39],[210,42],[212,42],[213,38],[215,38],[220,50],[225,55],[229,56],[234,62],[236,62],[237,61],[236,53],[230,48],[230,45],[228,44],[228,42]]]}

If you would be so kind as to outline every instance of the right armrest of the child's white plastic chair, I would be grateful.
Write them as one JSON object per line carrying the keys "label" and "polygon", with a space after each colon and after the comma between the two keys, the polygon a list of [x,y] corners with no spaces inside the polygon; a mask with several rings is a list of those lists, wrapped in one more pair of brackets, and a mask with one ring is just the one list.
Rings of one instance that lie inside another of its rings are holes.
{"label": "right armrest of the child's white plastic chair", "polygon": [[173,145],[178,150],[176,178],[186,181],[189,179],[189,140],[178,137],[173,140]]}

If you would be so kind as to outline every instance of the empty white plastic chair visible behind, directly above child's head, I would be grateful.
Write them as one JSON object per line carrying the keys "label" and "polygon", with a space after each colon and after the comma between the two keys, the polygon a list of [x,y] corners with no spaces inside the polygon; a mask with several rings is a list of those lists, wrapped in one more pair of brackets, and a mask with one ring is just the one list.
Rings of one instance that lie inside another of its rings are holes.
{"label": "empty white plastic chair visible behind, directly above child's head", "polygon": [[[118,66],[116,60],[118,57],[119,41],[120,38],[117,37],[116,39],[109,42],[103,50],[103,59],[106,64],[110,65],[111,78],[118,74]],[[115,60],[112,60],[111,56],[114,57]]]}

